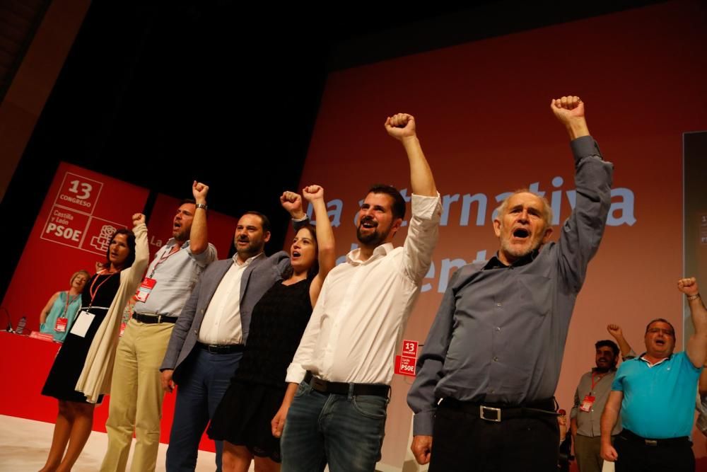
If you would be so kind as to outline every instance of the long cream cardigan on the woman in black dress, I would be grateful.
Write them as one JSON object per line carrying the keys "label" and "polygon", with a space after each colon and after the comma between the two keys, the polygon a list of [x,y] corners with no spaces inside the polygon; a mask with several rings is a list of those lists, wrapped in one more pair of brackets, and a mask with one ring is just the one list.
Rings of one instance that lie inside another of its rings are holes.
{"label": "long cream cardigan on the woman in black dress", "polygon": [[147,226],[138,224],[133,228],[135,234],[135,262],[120,271],[120,285],[108,313],[100,323],[93,342],[86,355],[81,376],[76,382],[76,391],[86,395],[88,403],[96,403],[100,394],[110,393],[110,379],[115,361],[115,349],[118,345],[118,333],[123,317],[123,310],[130,297],[135,294],[142,281],[149,262],[150,250],[147,245]]}

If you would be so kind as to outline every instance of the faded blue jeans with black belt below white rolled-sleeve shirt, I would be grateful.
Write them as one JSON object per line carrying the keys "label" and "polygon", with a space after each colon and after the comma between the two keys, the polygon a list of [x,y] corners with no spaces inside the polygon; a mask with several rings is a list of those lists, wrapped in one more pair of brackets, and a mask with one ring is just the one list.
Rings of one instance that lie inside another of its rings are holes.
{"label": "faded blue jeans with black belt below white rolled-sleeve shirt", "polygon": [[388,398],[319,393],[304,382],[287,413],[282,472],[373,472],[380,460]]}

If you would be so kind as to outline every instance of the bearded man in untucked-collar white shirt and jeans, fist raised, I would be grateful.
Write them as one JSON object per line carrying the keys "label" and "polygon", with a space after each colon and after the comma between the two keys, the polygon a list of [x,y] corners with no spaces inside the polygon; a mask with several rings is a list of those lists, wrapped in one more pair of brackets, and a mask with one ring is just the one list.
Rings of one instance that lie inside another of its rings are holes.
{"label": "bearded man in untucked-collar white shirt and jeans, fist raised", "polygon": [[[393,357],[437,243],[440,197],[416,137],[414,117],[385,122],[410,166],[412,217],[402,247],[392,238],[405,202],[388,185],[371,188],[358,213],[360,248],[325,280],[288,368],[294,393],[282,432],[283,471],[373,471],[385,432]],[[299,384],[299,386],[297,385]]]}

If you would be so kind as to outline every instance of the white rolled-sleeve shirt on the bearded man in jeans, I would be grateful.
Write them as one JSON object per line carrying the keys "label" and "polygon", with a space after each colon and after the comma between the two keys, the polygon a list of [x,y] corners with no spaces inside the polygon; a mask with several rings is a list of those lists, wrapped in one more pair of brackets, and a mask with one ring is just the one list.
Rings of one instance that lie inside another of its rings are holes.
{"label": "white rolled-sleeve shirt on the bearded man in jeans", "polygon": [[329,381],[390,384],[393,356],[432,262],[441,202],[412,195],[402,247],[378,246],[366,261],[351,251],[324,282],[286,381],[305,372]]}

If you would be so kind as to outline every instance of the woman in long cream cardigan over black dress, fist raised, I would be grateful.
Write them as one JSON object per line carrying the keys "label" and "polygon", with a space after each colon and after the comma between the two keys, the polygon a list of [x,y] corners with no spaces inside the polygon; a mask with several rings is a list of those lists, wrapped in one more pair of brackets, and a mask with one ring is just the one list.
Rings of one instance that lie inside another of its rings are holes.
{"label": "woman in long cream cardigan over black dress, fist raised", "polygon": [[133,231],[113,234],[103,270],[86,282],[81,309],[42,388],[42,395],[59,401],[59,415],[41,472],[71,470],[90,435],[95,404],[110,391],[123,309],[149,258],[145,215],[136,213],[132,219]]}

